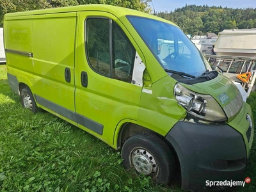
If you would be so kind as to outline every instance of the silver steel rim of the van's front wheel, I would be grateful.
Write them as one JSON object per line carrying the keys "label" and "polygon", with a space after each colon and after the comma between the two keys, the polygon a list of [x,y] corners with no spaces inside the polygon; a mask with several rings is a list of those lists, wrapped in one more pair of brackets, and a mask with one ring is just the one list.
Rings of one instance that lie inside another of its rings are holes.
{"label": "silver steel rim of the van's front wheel", "polygon": [[135,148],[132,150],[131,163],[140,174],[154,175],[157,173],[156,159],[145,148]]}

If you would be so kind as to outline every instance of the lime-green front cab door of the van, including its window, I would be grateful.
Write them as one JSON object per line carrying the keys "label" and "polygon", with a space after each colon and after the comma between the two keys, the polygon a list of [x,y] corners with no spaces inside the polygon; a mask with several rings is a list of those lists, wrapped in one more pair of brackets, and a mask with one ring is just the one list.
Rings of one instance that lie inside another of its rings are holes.
{"label": "lime-green front cab door of the van, including its window", "polygon": [[118,122],[137,118],[142,83],[132,81],[132,74],[141,57],[127,29],[111,13],[79,12],[78,18],[77,123],[113,145]]}

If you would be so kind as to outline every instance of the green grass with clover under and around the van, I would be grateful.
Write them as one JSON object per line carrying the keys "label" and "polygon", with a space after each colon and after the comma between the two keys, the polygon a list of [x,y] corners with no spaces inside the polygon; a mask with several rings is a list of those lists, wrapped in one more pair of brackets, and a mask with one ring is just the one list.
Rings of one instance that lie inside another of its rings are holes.
{"label": "green grass with clover under and around the van", "polygon": [[[256,120],[256,93],[248,102]],[[254,141],[256,139],[254,138]],[[256,147],[244,175],[252,182],[228,191],[255,191]],[[179,174],[178,174],[179,175]],[[128,172],[120,152],[47,112],[23,109],[0,65],[0,191],[182,191]]]}

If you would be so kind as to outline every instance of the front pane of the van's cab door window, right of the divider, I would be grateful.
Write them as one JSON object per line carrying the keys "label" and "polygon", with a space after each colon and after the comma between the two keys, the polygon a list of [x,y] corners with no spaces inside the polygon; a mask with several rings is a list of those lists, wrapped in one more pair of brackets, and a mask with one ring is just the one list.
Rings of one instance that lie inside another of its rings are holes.
{"label": "front pane of the van's cab door window, right of the divider", "polygon": [[113,78],[131,83],[136,50],[124,31],[113,22]]}

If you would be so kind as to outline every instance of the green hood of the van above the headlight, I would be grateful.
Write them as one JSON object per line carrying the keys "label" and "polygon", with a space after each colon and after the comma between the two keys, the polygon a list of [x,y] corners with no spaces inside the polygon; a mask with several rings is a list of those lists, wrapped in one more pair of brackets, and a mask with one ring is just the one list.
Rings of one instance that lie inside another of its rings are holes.
{"label": "green hood of the van above the headlight", "polygon": [[243,97],[236,85],[221,74],[210,81],[183,85],[193,92],[211,95],[227,115],[228,122],[236,117],[243,106]]}

